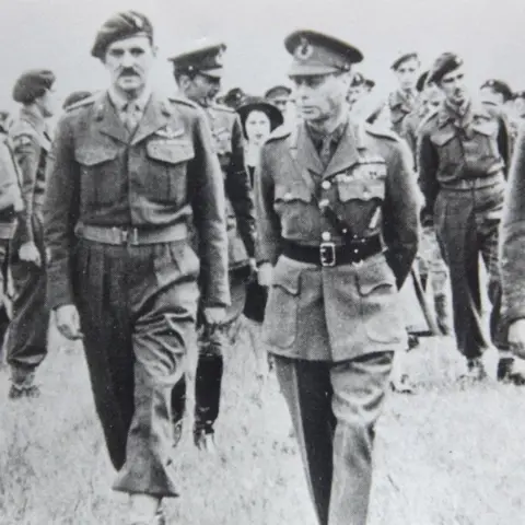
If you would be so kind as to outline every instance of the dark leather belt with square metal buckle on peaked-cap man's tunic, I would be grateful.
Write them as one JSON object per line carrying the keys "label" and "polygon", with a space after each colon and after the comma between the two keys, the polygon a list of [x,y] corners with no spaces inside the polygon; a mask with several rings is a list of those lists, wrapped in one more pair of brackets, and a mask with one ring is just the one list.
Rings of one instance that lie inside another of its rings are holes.
{"label": "dark leather belt with square metal buckle on peaked-cap man's tunic", "polygon": [[355,238],[340,246],[335,243],[304,246],[285,238],[282,240],[282,255],[301,262],[323,267],[360,265],[381,252],[383,252],[383,246],[380,235]]}

